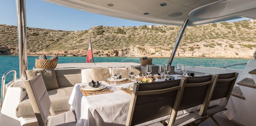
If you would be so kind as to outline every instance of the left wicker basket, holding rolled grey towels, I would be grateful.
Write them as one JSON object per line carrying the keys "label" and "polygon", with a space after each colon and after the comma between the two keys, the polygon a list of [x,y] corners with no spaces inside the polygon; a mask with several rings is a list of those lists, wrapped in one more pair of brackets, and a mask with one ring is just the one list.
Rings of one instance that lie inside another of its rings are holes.
{"label": "left wicker basket, holding rolled grey towels", "polygon": [[52,69],[56,68],[58,59],[36,59],[36,68]]}

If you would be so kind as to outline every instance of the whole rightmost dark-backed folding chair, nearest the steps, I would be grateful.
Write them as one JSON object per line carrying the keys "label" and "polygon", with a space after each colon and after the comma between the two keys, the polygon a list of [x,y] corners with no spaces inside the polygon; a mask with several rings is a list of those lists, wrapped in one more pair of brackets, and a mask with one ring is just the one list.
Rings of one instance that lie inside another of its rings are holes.
{"label": "whole rightmost dark-backed folding chair, nearest the steps", "polygon": [[[227,110],[226,105],[228,104],[233,87],[236,83],[237,76],[238,76],[237,72],[224,73],[224,74],[218,75],[216,86],[215,88],[212,89],[213,94],[212,96],[210,96],[211,98],[205,105],[205,107],[207,108],[205,112],[205,116],[203,119],[201,119],[199,122],[195,123],[194,125],[199,125],[200,123],[203,123],[203,121],[205,121],[208,118],[211,118],[217,126],[220,125],[218,121],[213,117],[213,115],[218,112]],[[219,105],[208,108],[210,101],[217,100],[220,98],[225,98],[224,102],[220,103]]]}

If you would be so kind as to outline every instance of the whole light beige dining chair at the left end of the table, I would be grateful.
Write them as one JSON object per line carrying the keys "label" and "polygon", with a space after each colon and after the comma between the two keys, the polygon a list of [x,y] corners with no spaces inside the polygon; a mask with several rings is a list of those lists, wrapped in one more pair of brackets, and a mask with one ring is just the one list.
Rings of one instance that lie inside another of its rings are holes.
{"label": "whole light beige dining chair at the left end of the table", "polygon": [[[27,95],[30,99],[33,111],[39,126],[75,126],[76,113],[68,111],[56,115],[51,106],[51,100],[47,93],[43,77],[39,73],[31,80],[24,82]],[[48,119],[51,113],[52,117]]]}

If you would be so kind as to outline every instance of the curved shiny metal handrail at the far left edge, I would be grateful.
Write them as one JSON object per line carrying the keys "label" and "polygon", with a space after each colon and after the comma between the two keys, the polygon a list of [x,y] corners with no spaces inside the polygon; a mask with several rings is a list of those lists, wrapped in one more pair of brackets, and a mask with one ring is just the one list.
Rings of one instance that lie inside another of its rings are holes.
{"label": "curved shiny metal handrail at the far left edge", "polygon": [[[4,89],[5,89],[5,78],[6,76],[10,73],[10,72],[13,72],[13,80],[11,82],[14,82],[17,78],[17,74],[16,74],[16,71],[15,70],[9,70],[7,71],[3,77],[2,77],[2,85],[1,85],[1,103],[0,103],[0,107],[2,107],[2,104],[4,102],[4,95],[5,95],[5,92],[4,92]],[[8,85],[7,85],[8,86]]]}

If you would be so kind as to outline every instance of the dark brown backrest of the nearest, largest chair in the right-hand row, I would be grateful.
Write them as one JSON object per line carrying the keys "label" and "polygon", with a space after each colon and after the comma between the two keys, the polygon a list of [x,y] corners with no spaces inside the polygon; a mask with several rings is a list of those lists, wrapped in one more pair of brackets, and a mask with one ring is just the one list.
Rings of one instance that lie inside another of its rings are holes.
{"label": "dark brown backrest of the nearest, largest chair in the right-hand row", "polygon": [[178,100],[186,79],[154,83],[135,83],[126,126],[133,126],[171,114],[178,110]]}

